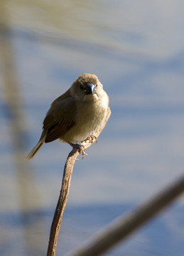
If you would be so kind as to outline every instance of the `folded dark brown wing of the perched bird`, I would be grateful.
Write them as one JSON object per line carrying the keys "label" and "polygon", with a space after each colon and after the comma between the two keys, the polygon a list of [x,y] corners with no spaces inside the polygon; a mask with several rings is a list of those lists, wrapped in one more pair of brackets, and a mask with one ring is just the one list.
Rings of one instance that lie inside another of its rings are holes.
{"label": "folded dark brown wing of the perched bird", "polygon": [[76,105],[73,97],[58,97],[48,110],[43,121],[43,130],[47,130],[45,143],[53,142],[65,135],[75,124]]}

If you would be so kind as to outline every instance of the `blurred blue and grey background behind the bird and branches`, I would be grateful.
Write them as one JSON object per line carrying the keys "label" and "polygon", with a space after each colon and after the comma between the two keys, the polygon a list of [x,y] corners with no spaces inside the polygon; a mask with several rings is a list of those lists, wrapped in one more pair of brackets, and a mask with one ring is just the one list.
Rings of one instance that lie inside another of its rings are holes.
{"label": "blurred blue and grey background behind the bird and branches", "polygon": [[[184,2],[1,0],[0,255],[45,255],[71,147],[40,137],[50,103],[95,73],[112,115],[75,163],[57,255],[183,173]],[[183,256],[183,197],[109,256]]]}

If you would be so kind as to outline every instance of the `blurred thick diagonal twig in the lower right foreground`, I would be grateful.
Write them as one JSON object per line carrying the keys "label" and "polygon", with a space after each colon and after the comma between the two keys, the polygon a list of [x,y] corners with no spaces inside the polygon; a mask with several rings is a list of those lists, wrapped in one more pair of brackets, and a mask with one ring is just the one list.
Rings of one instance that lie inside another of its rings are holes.
{"label": "blurred thick diagonal twig in the lower right foreground", "polygon": [[127,216],[121,216],[118,220],[115,220],[107,228],[97,233],[90,242],[76,248],[74,252],[65,256],[99,256],[104,254],[104,252],[121,240],[125,240],[137,228],[153,218],[154,215],[174,201],[176,197],[180,196],[183,191],[184,176]]}

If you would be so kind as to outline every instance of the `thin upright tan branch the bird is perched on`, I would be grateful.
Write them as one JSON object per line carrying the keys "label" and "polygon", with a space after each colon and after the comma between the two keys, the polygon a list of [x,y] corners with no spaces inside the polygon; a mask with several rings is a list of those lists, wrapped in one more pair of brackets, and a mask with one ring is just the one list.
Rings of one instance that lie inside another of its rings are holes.
{"label": "thin upright tan branch the bird is perched on", "polygon": [[[107,117],[104,121],[104,124],[102,127],[94,133],[96,137],[99,136],[99,134],[102,132],[102,129],[104,129],[105,124],[107,123],[109,117],[111,114],[111,110],[108,109],[107,111]],[[85,142],[82,142],[82,145],[84,146],[85,149],[89,148],[93,143],[95,142],[95,138],[92,137],[90,140],[86,140]],[[58,199],[58,204],[55,208],[55,214],[53,218],[53,223],[50,228],[50,238],[48,242],[48,252],[47,256],[55,256],[55,250],[56,250],[56,245],[57,245],[57,240],[58,240],[58,233],[60,230],[60,223],[63,217],[63,212],[65,210],[65,206],[67,203],[67,196],[69,193],[70,189],[70,181],[72,178],[72,169],[75,164],[75,160],[77,156],[79,155],[79,151],[76,148],[73,148],[70,154],[67,156],[67,161],[65,163],[65,169],[63,173],[63,182],[61,186],[61,191],[60,191],[60,196]]]}

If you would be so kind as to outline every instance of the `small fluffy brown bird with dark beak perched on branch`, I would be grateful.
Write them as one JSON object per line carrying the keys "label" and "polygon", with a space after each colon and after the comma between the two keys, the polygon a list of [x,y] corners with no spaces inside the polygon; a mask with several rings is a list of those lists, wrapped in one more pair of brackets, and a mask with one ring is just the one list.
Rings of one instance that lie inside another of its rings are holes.
{"label": "small fluffy brown bird with dark beak perched on branch", "polygon": [[84,149],[79,144],[94,137],[93,133],[104,123],[109,106],[109,97],[96,75],[80,75],[63,95],[51,104],[43,121],[43,132],[38,144],[26,159],[32,159],[44,143],[60,139],[77,147],[82,156]]}

